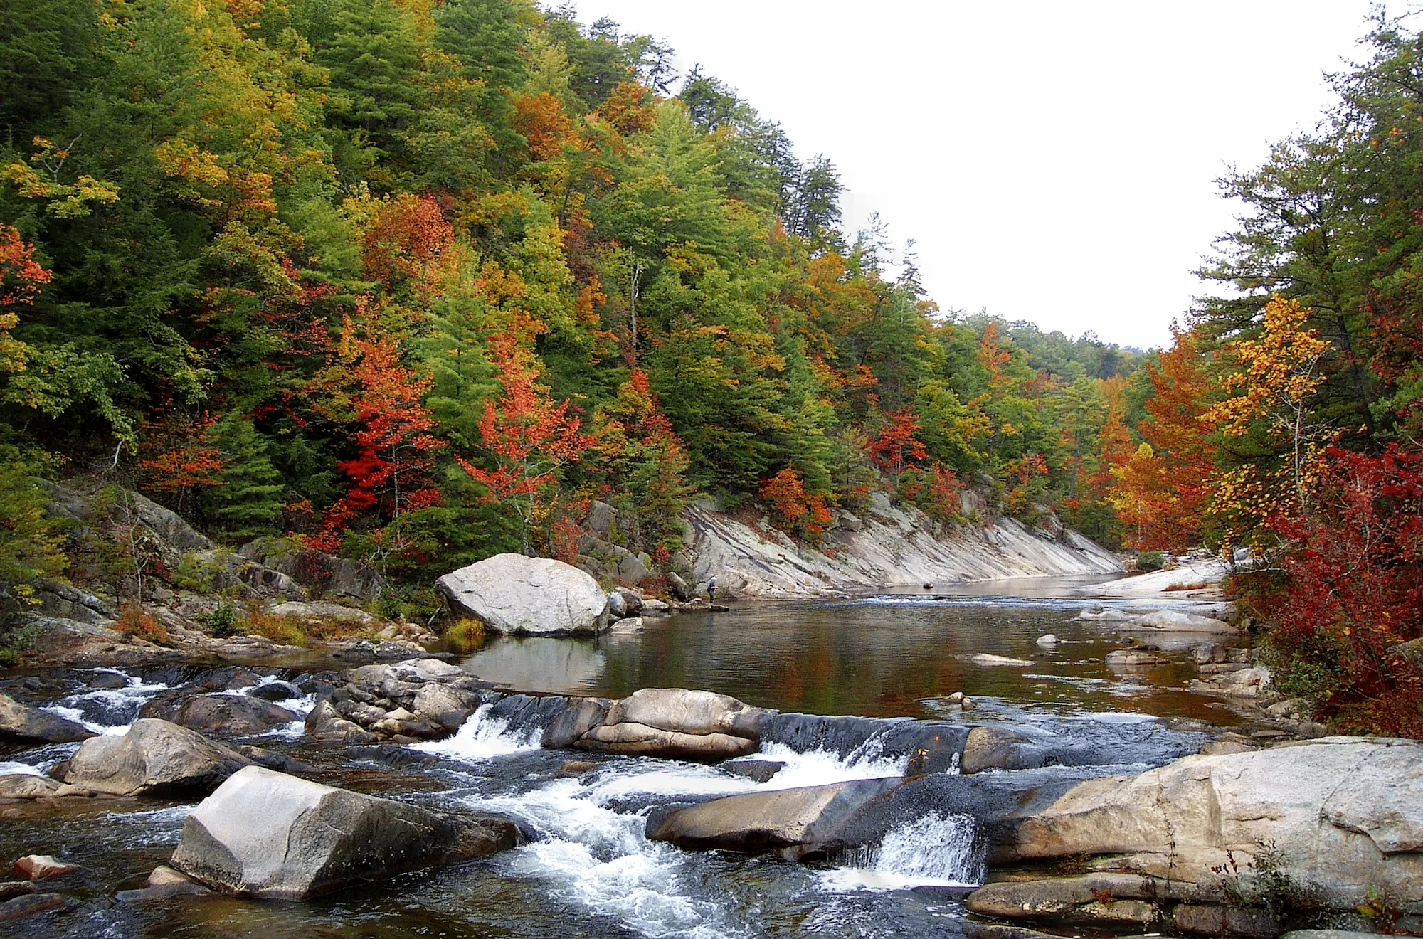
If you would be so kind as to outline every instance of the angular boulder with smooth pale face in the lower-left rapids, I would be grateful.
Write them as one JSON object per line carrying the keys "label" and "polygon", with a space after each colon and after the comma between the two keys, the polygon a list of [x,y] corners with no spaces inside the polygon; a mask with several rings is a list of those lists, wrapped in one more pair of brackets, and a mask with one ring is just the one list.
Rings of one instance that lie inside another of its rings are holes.
{"label": "angular boulder with smooth pale face in the lower-left rapids", "polygon": [[188,815],[169,864],[223,893],[300,899],[517,841],[504,818],[431,812],[249,767]]}

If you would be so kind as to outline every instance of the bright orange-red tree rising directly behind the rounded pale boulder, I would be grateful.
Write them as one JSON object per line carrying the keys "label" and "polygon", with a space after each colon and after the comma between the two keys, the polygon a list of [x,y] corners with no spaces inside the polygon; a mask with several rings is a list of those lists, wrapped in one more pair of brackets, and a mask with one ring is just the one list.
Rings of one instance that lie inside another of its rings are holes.
{"label": "bright orange-red tree rising directly behind the rounded pale boulder", "polygon": [[514,509],[524,553],[529,553],[529,526],[539,497],[556,489],[558,471],[578,461],[592,440],[579,430],[578,415],[568,413],[566,400],[549,400],[548,388],[538,384],[534,356],[514,336],[494,336],[490,360],[504,393],[498,401],[484,403],[480,438],[485,465],[460,455],[455,460],[487,489],[481,501]]}

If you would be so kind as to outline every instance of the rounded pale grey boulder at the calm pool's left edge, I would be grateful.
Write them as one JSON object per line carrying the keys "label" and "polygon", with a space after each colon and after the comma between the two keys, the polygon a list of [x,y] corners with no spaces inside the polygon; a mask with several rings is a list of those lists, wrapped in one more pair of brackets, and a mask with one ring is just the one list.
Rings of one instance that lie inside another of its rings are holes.
{"label": "rounded pale grey boulder at the calm pool's left edge", "polygon": [[551,558],[495,555],[435,586],[450,606],[498,633],[595,635],[608,629],[608,595],[588,573]]}

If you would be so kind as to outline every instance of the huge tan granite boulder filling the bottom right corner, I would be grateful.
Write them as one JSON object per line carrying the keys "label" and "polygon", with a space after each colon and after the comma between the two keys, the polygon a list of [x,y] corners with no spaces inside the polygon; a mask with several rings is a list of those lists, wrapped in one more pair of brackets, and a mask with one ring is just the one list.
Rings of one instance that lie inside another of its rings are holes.
{"label": "huge tan granite boulder filling the bottom right corner", "polygon": [[1336,908],[1372,889],[1423,902],[1423,743],[1326,737],[1087,780],[989,825],[990,862],[1099,858],[1101,869],[1215,884],[1274,844],[1281,871]]}

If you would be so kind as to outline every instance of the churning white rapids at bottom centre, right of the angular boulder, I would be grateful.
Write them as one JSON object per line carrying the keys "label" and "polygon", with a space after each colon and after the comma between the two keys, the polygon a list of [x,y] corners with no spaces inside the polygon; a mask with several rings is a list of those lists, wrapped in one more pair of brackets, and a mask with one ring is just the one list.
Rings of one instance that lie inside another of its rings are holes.
{"label": "churning white rapids at bottom centre, right of the angular boulder", "polygon": [[642,815],[606,804],[629,792],[694,791],[713,784],[713,773],[692,764],[656,770],[630,761],[586,785],[555,780],[521,795],[472,804],[545,835],[511,852],[514,872],[544,881],[593,915],[613,918],[649,939],[744,936],[748,930],[721,903],[696,895],[700,878],[690,876],[696,855],[647,841]]}

